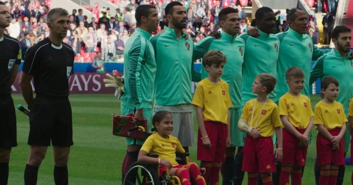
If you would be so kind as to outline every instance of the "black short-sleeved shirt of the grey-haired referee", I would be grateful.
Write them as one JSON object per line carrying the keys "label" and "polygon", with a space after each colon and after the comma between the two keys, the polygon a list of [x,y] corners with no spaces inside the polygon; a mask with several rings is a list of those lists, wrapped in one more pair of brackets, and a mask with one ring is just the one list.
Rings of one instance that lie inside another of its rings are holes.
{"label": "black short-sleeved shirt of the grey-haired referee", "polygon": [[55,46],[46,38],[28,49],[22,71],[33,76],[37,96],[65,98],[69,94],[73,60],[74,52],[69,45]]}

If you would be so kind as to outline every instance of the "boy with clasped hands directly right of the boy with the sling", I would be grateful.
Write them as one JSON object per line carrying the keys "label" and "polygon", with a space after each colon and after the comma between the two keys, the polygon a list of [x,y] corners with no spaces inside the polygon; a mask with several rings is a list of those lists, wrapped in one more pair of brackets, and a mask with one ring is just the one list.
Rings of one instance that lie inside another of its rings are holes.
{"label": "boy with clasped hands directly right of the boy with the sling", "polygon": [[299,67],[286,71],[289,91],[280,98],[279,112],[285,128],[283,132],[283,158],[280,184],[301,184],[301,169],[305,166],[309,135],[313,126],[314,113],[310,98],[300,92],[305,86],[305,74]]}

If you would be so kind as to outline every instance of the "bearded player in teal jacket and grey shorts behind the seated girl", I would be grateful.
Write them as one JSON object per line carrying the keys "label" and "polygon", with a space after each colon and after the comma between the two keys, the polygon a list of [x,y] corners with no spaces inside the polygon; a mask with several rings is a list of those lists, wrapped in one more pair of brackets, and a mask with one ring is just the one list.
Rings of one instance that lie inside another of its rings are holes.
{"label": "bearded player in teal jacket and grey shorts behind the seated girl", "polygon": [[157,64],[154,112],[171,112],[172,135],[188,152],[194,135],[191,81],[200,81],[201,75],[193,69],[193,41],[182,32],[186,27],[185,7],[180,2],[170,2],[165,13],[168,26],[150,40]]}

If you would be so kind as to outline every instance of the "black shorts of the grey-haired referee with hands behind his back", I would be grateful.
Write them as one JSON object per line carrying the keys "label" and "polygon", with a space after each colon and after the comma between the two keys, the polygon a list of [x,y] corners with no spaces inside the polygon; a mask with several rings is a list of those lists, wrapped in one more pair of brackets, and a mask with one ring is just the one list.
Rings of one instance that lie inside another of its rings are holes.
{"label": "black shorts of the grey-haired referee with hands behind his back", "polygon": [[72,146],[72,112],[68,99],[35,97],[29,116],[28,144]]}

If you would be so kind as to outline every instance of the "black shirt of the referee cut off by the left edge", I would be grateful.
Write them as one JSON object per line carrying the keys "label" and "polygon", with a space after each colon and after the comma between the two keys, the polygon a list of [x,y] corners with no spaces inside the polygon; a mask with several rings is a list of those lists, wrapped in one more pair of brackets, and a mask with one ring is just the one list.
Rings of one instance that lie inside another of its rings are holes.
{"label": "black shirt of the referee cut off by the left edge", "polygon": [[4,35],[0,39],[0,96],[11,94],[11,69],[14,64],[21,64],[18,41]]}

